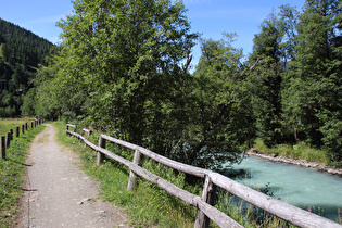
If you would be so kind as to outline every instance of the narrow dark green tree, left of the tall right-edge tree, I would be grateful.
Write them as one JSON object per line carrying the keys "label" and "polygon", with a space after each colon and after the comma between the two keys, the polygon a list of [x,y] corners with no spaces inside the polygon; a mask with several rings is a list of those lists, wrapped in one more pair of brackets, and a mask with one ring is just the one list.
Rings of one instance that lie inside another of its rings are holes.
{"label": "narrow dark green tree, left of the tall right-edge tree", "polygon": [[273,12],[261,26],[262,31],[254,37],[253,53],[250,56],[251,102],[255,117],[256,135],[266,145],[275,145],[281,140],[281,81],[284,52],[281,42],[284,26]]}

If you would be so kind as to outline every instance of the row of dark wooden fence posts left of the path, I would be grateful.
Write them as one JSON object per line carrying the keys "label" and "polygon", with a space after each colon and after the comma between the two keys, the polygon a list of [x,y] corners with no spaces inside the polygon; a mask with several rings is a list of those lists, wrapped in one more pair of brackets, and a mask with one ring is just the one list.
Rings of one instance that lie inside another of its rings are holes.
{"label": "row of dark wooden fence posts left of the path", "polygon": [[[13,118],[8,118],[13,119]],[[30,122],[26,122],[22,126],[15,127],[15,137],[20,137],[21,134],[25,134],[28,130],[28,123],[30,123],[30,128],[35,128],[37,125],[42,124],[42,118],[35,118]],[[13,140],[14,131],[10,129],[7,136],[1,136],[1,159],[5,160],[5,150],[11,147],[11,141]]]}

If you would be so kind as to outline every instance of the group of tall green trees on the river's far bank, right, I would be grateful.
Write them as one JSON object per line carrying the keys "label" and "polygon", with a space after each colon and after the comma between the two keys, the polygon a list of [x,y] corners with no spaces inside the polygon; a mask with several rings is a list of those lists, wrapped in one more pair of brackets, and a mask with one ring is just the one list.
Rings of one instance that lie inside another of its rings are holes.
{"label": "group of tall green trees on the river's far bank, right", "polygon": [[306,1],[302,13],[283,5],[263,22],[244,74],[267,147],[302,141],[341,160],[341,40],[337,0]]}

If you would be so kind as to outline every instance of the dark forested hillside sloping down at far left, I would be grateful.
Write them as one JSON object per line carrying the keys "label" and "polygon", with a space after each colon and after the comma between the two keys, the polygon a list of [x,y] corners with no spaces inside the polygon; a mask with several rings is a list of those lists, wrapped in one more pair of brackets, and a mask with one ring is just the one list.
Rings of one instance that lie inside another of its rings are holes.
{"label": "dark forested hillside sloping down at far left", "polygon": [[0,117],[21,115],[38,65],[48,65],[53,43],[0,18]]}

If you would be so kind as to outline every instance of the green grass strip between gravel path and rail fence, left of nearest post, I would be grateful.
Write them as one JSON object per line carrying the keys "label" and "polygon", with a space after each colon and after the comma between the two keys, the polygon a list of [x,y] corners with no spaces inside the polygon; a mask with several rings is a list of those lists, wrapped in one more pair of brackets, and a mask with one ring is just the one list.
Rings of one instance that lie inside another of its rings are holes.
{"label": "green grass strip between gravel path and rail fence, left of nearest post", "polygon": [[[96,152],[88,148],[85,149],[77,139],[66,136],[64,123],[53,123],[53,126],[59,129],[59,141],[67,147],[73,145],[71,148],[80,154],[85,173],[101,182],[101,197],[114,205],[124,207],[130,216],[131,225],[135,227],[193,227],[197,208],[143,179],[138,179],[137,188],[132,192],[126,191],[128,168],[111,160],[104,160],[103,164],[98,167]],[[99,134],[94,132],[91,135],[90,141],[97,144],[98,138]],[[106,143],[106,148],[132,161],[134,151],[123,150],[112,143]],[[156,165],[150,160],[144,160],[143,167],[192,193],[199,195],[202,191],[197,187],[187,186],[183,175],[175,175],[173,169]]]}

